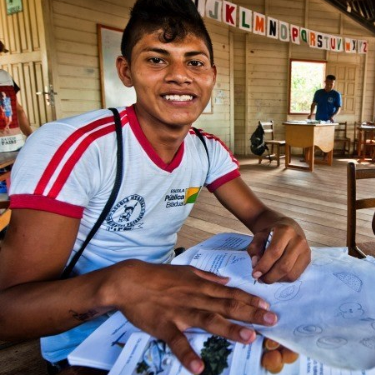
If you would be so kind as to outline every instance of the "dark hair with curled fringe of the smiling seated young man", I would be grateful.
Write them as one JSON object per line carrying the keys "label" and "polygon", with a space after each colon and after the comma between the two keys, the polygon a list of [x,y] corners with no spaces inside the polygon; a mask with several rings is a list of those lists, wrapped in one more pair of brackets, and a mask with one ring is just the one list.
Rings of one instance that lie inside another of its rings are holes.
{"label": "dark hair with curled fringe of the smiling seated young man", "polygon": [[129,64],[133,48],[141,37],[160,29],[163,30],[160,40],[164,43],[183,40],[187,34],[201,38],[208,48],[211,65],[214,64],[210,35],[192,0],[136,1],[121,41],[121,54]]}

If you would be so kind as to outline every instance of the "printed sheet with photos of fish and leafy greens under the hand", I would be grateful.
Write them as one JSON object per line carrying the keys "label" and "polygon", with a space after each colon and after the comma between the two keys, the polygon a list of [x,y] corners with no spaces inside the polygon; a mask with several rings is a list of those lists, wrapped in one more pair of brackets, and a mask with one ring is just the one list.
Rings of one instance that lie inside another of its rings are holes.
{"label": "printed sheet with photos of fish and leafy greens under the hand", "polygon": [[[204,347],[207,347],[207,342],[213,337],[202,332],[186,333],[186,336],[193,349],[200,356],[203,356]],[[221,369],[220,373],[217,371],[213,372],[214,374],[271,375],[270,372],[260,366],[263,336],[258,336],[249,345],[229,340],[225,340],[225,342],[224,352],[213,351],[213,358],[214,360],[217,359]],[[144,332],[133,333],[108,375],[148,374],[191,375],[162,341],[152,338]],[[278,375],[375,375],[375,370],[350,371],[330,368],[310,357],[301,356],[296,362],[285,364]]]}

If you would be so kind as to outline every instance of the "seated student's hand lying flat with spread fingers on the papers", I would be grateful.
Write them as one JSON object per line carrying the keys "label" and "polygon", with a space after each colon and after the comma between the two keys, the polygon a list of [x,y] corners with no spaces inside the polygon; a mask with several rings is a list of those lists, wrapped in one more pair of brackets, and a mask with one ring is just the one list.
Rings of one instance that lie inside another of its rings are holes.
{"label": "seated student's hand lying flat with spread fingers on the papers", "polygon": [[259,297],[226,287],[227,278],[191,266],[124,261],[111,267],[109,302],[135,326],[162,339],[193,374],[204,369],[183,331],[198,327],[249,344],[252,329],[230,320],[272,326],[277,317]]}

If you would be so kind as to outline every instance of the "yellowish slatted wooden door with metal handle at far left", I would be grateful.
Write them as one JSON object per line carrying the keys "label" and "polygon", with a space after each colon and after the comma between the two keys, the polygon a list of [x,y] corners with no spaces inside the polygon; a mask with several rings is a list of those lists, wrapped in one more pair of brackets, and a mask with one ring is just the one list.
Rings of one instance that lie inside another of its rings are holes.
{"label": "yellowish slatted wooden door with metal handle at far left", "polygon": [[22,3],[21,12],[7,15],[6,1],[0,1],[0,40],[9,49],[0,55],[0,68],[20,86],[18,101],[35,129],[55,119],[53,103],[43,94],[53,92],[53,86],[48,77],[42,0]]}

